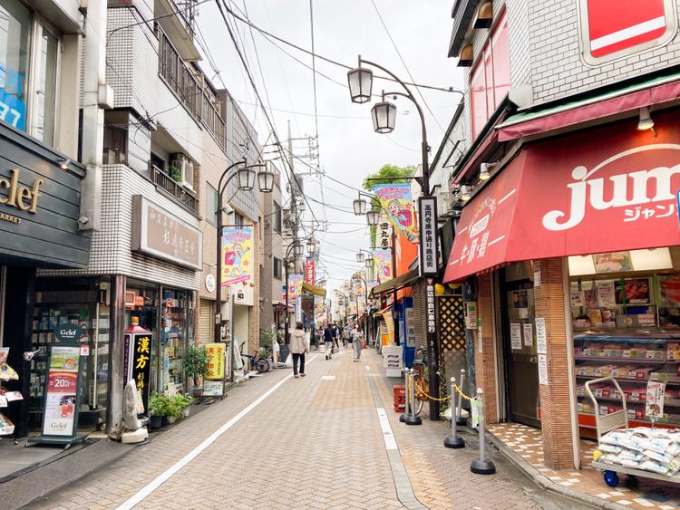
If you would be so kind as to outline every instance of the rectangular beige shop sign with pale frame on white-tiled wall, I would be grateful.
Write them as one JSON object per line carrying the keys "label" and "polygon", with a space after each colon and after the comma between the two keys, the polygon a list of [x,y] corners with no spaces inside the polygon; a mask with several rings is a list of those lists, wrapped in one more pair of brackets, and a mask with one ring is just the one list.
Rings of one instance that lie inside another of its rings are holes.
{"label": "rectangular beige shop sign with pale frame on white-tiled wall", "polygon": [[203,233],[141,195],[132,197],[131,250],[203,269]]}

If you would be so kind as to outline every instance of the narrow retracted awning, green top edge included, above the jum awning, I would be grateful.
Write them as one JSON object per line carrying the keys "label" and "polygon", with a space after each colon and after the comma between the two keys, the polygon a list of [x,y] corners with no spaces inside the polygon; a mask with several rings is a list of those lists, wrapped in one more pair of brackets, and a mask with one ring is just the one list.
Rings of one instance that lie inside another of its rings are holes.
{"label": "narrow retracted awning, green top edge included, above the jum awning", "polygon": [[578,100],[560,101],[535,111],[513,115],[496,126],[498,140],[516,140],[678,98],[680,72],[666,73],[615,91],[591,93]]}

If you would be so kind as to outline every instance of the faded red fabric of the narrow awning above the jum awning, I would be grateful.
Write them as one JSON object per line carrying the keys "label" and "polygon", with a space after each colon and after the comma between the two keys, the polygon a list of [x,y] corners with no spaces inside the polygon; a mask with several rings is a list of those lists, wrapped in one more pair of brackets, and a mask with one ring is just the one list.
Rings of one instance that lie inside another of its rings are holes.
{"label": "faded red fabric of the narrow awning above the jum awning", "polygon": [[[575,104],[567,111],[553,112],[548,110],[545,112],[545,116],[534,120],[518,121],[513,124],[512,118],[510,118],[498,128],[498,140],[516,140],[588,120],[601,119],[621,111],[631,111],[643,106],[675,101],[678,98],[680,98],[680,82],[672,82],[585,106]],[[521,115],[518,115],[518,117],[521,118]]]}

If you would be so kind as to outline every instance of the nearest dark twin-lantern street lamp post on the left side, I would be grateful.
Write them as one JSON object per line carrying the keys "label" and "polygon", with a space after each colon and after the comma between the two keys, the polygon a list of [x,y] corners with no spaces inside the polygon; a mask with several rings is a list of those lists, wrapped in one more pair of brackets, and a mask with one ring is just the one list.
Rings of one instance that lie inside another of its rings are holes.
{"label": "nearest dark twin-lantern street lamp post on the left side", "polygon": [[[255,188],[255,169],[254,168],[264,168],[261,169],[259,172],[257,172],[257,183],[259,190],[263,193],[271,193],[272,188],[274,188],[274,173],[271,172],[268,168],[267,165],[250,165],[245,168],[238,168],[238,170],[234,171],[231,173],[231,175],[228,176],[228,173],[230,170],[237,168],[239,165],[245,165],[246,164],[246,159],[241,159],[234,163],[233,165],[229,165],[224,172],[222,172],[222,175],[219,176],[219,183],[218,183],[218,239],[217,239],[217,255],[218,255],[218,284],[217,284],[217,289],[215,291],[215,301],[216,301],[216,306],[215,306],[215,342],[219,342],[222,339],[222,230],[224,228],[224,225],[222,223],[222,212],[224,211],[224,207],[222,205],[222,194],[224,193],[225,189],[227,189],[229,181],[232,178],[238,177],[238,190],[239,191],[251,191],[253,188]],[[227,177],[228,176],[228,177]],[[222,181],[224,178],[227,178],[227,180],[224,181],[224,184],[222,184]],[[231,296],[229,296],[229,299],[231,299]],[[231,318],[233,321],[233,317]],[[231,370],[231,367],[229,367],[229,370]]]}

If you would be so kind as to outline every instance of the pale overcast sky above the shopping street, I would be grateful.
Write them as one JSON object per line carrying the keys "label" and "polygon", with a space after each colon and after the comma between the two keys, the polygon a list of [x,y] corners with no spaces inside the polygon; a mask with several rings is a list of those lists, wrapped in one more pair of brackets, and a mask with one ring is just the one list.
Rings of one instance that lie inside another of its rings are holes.
{"label": "pale overcast sky above the shopping street", "polygon": [[[357,57],[361,54],[364,59],[394,72],[404,82],[412,82],[413,76],[415,83],[444,89],[461,88],[461,72],[456,68],[456,60],[446,56],[452,31],[452,2],[312,2],[316,54],[352,67],[356,67]],[[234,13],[248,17],[258,28],[311,50],[309,0],[226,0],[226,3]],[[260,143],[267,138],[271,143],[271,130],[217,5],[209,2],[199,5],[199,9],[199,40],[204,40],[209,48],[209,55],[203,52],[201,67],[216,85],[221,86],[220,79],[224,82],[255,125]],[[359,248],[370,247],[365,217],[355,217],[351,212],[356,188],[361,188],[367,174],[386,163],[406,166],[421,161],[418,112],[412,102],[400,98],[394,101],[399,115],[393,133],[374,133],[371,104],[359,105],[350,101],[347,70],[317,58],[318,116],[315,118],[311,56],[285,43],[272,42],[256,29],[226,14],[278,139],[287,140],[288,120],[293,138],[315,136],[318,121],[319,159],[310,163],[315,168],[319,164],[326,177],[305,178],[305,191],[312,207],[311,211],[307,207],[304,219],[311,222],[313,211],[314,217],[327,226],[326,231],[317,232],[316,237],[321,247],[321,262],[329,278],[327,288],[333,289],[360,268],[355,260]],[[219,70],[219,77],[211,66]],[[384,75],[377,69],[374,74]],[[381,90],[401,91],[396,83],[376,80],[374,94]],[[421,97],[414,88],[412,90],[425,114],[432,159],[461,95],[420,89]],[[305,141],[295,141],[296,154],[306,154],[306,145]],[[296,172],[310,171],[300,161],[296,161],[295,169]],[[324,202],[327,207],[314,200]],[[322,271],[321,268],[317,270],[317,277]]]}

